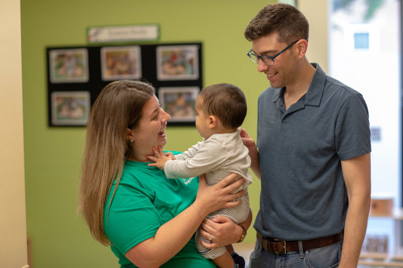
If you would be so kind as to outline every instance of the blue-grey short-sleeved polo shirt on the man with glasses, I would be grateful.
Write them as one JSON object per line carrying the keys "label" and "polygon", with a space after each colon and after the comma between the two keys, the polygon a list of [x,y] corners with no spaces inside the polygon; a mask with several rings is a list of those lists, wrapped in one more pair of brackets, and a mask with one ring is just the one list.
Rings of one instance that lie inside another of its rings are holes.
{"label": "blue-grey short-sleeved polo shirt on the man with glasses", "polygon": [[263,236],[306,240],[344,229],[348,197],[340,160],[371,151],[362,95],[318,64],[308,92],[286,111],[285,88],[258,99],[260,210]]}

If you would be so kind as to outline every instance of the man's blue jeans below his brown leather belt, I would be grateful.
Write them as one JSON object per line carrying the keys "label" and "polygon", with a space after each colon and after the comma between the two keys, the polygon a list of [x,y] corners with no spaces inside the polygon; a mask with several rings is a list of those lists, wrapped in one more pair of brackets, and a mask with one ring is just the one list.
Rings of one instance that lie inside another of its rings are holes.
{"label": "man's blue jeans below his brown leather belt", "polygon": [[286,254],[273,253],[261,246],[261,241],[256,239],[255,248],[250,254],[249,267],[309,267],[309,268],[333,268],[338,267],[342,256],[343,240],[337,243],[302,250],[299,242],[299,251],[290,251]]}

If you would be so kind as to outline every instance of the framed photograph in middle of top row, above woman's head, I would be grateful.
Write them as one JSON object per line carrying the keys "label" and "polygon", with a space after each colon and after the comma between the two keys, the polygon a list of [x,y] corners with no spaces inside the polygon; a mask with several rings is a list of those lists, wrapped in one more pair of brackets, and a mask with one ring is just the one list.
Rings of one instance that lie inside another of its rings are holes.
{"label": "framed photograph in middle of top row, above woman's head", "polygon": [[140,46],[101,48],[101,69],[105,81],[141,78]]}

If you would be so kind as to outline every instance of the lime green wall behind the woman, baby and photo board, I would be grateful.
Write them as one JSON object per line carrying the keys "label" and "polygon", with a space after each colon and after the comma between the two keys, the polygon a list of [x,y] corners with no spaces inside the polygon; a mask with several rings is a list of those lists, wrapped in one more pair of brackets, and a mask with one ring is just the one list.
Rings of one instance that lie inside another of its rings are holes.
{"label": "lime green wall behind the woman, baby and photo board", "polygon": [[[230,82],[244,91],[248,114],[243,127],[255,138],[257,97],[268,81],[247,58],[251,44],[243,31],[271,2],[21,0],[27,234],[34,268],[118,266],[76,214],[85,128],[47,126],[45,47],[86,45],[89,26],[147,23],[160,25],[158,42],[201,41],[204,85]],[[183,151],[201,140],[195,127],[168,124],[167,135],[168,150]],[[254,217],[259,192],[255,178],[249,188]],[[245,241],[254,237],[250,228]]]}

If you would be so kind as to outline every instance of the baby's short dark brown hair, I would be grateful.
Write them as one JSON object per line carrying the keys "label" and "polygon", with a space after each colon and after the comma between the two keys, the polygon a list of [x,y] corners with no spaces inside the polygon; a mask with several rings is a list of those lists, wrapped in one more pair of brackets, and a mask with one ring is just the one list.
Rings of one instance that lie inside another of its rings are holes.
{"label": "baby's short dark brown hair", "polygon": [[227,129],[240,127],[246,116],[246,99],[240,88],[233,84],[221,83],[206,86],[199,98],[201,109],[209,115],[217,116]]}

